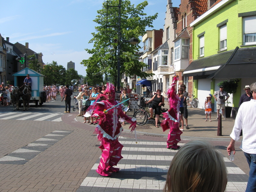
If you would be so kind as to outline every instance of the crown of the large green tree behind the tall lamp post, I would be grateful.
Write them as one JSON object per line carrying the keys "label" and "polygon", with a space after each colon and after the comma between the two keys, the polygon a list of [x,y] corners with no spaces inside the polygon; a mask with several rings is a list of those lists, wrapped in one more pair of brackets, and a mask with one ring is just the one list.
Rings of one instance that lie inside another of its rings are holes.
{"label": "crown of the large green tree behind the tall lamp post", "polygon": [[[89,79],[92,82],[96,82],[96,74],[102,76],[106,74],[111,76],[116,83],[117,77],[117,43],[114,39],[118,39],[118,6],[119,0],[111,0],[103,3],[103,9],[97,11],[98,16],[93,20],[97,23],[97,33],[92,33],[93,38],[89,43],[93,44],[93,49],[85,49],[92,56],[83,60],[81,64],[87,66],[88,84]],[[143,10],[148,5],[147,1],[144,1],[137,6],[131,5],[129,0],[122,0],[121,5],[121,36],[120,42],[127,41],[131,38],[139,38],[145,34],[145,28],[153,27],[152,22],[157,18],[157,13],[153,16],[146,16]],[[107,14],[108,12],[108,14]],[[111,46],[111,48],[110,48]],[[112,48],[113,47],[113,48]],[[135,52],[141,49],[139,44],[131,45],[128,43],[122,43],[120,49],[120,74],[126,74],[126,76],[140,76],[142,78],[152,76],[153,74],[143,72],[141,69],[147,65],[143,62],[139,62],[134,59]],[[99,77],[100,79],[101,77]],[[102,82],[102,81],[101,81]]]}

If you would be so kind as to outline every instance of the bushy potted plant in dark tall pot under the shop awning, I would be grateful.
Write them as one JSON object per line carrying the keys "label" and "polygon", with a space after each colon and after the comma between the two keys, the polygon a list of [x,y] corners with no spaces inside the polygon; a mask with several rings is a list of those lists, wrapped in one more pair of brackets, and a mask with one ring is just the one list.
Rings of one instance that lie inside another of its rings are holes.
{"label": "bushy potted plant in dark tall pot under the shop awning", "polygon": [[[227,93],[234,94],[236,93],[236,89],[238,87],[238,81],[239,81],[238,79],[230,79],[229,81],[228,80],[221,81],[217,85],[218,86],[222,85],[224,87],[224,91],[226,91]],[[230,102],[227,101],[227,105],[228,104],[230,104]],[[228,106],[225,107],[227,118],[230,118],[231,111],[232,111],[232,107],[228,107]]]}

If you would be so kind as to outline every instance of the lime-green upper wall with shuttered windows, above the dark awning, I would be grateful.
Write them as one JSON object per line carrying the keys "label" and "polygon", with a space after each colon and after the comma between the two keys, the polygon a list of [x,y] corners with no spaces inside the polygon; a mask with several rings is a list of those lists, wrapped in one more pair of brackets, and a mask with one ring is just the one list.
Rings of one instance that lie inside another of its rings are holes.
{"label": "lime-green upper wall with shuttered windows, above the dark awning", "polygon": [[[222,51],[232,50],[237,46],[256,44],[256,14],[253,14],[256,12],[255,1],[226,0],[226,2],[226,6],[222,9],[215,11],[214,14],[194,26],[194,60],[202,56],[207,57]],[[244,24],[247,29],[244,29]],[[243,35],[244,33],[247,35]],[[202,37],[204,37],[204,55],[200,54],[200,38]]]}

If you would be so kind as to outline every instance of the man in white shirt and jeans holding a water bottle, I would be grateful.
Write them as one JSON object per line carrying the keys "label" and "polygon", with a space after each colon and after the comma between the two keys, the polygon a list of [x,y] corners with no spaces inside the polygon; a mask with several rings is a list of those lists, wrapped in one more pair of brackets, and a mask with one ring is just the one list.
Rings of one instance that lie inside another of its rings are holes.
{"label": "man in white shirt and jeans holding a water bottle", "polygon": [[243,102],[236,116],[235,125],[230,134],[231,141],[227,147],[230,155],[236,153],[235,141],[239,140],[241,130],[243,130],[243,140],[240,148],[244,151],[244,156],[250,167],[249,179],[245,192],[256,192],[256,82],[250,85],[253,92],[253,99]]}

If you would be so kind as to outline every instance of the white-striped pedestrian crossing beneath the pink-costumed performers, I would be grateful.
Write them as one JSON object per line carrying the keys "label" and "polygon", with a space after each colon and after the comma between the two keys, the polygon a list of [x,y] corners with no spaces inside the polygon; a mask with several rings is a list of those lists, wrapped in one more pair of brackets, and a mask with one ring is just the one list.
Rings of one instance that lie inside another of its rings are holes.
{"label": "white-striped pedestrian crossing beneath the pink-costumed performers", "polygon": [[[99,166],[101,158],[99,157],[77,192],[93,191],[94,188],[95,190],[102,188],[105,191],[111,191],[111,189],[116,191],[116,188],[120,188],[118,191],[122,191],[126,188],[130,189],[129,191],[137,192],[140,192],[138,189],[153,189],[157,192],[163,190],[171,160],[177,150],[167,149],[166,142],[138,140],[138,143],[135,144],[134,140],[125,140],[124,137],[121,137],[119,141],[124,145],[121,153],[123,158],[115,166],[120,171],[113,173],[111,177],[98,175],[96,169]],[[184,145],[184,143],[179,143],[179,145]],[[163,147],[161,148],[161,146]],[[245,191],[247,175],[227,157],[223,157],[223,159],[226,162],[229,179],[226,191]]]}

